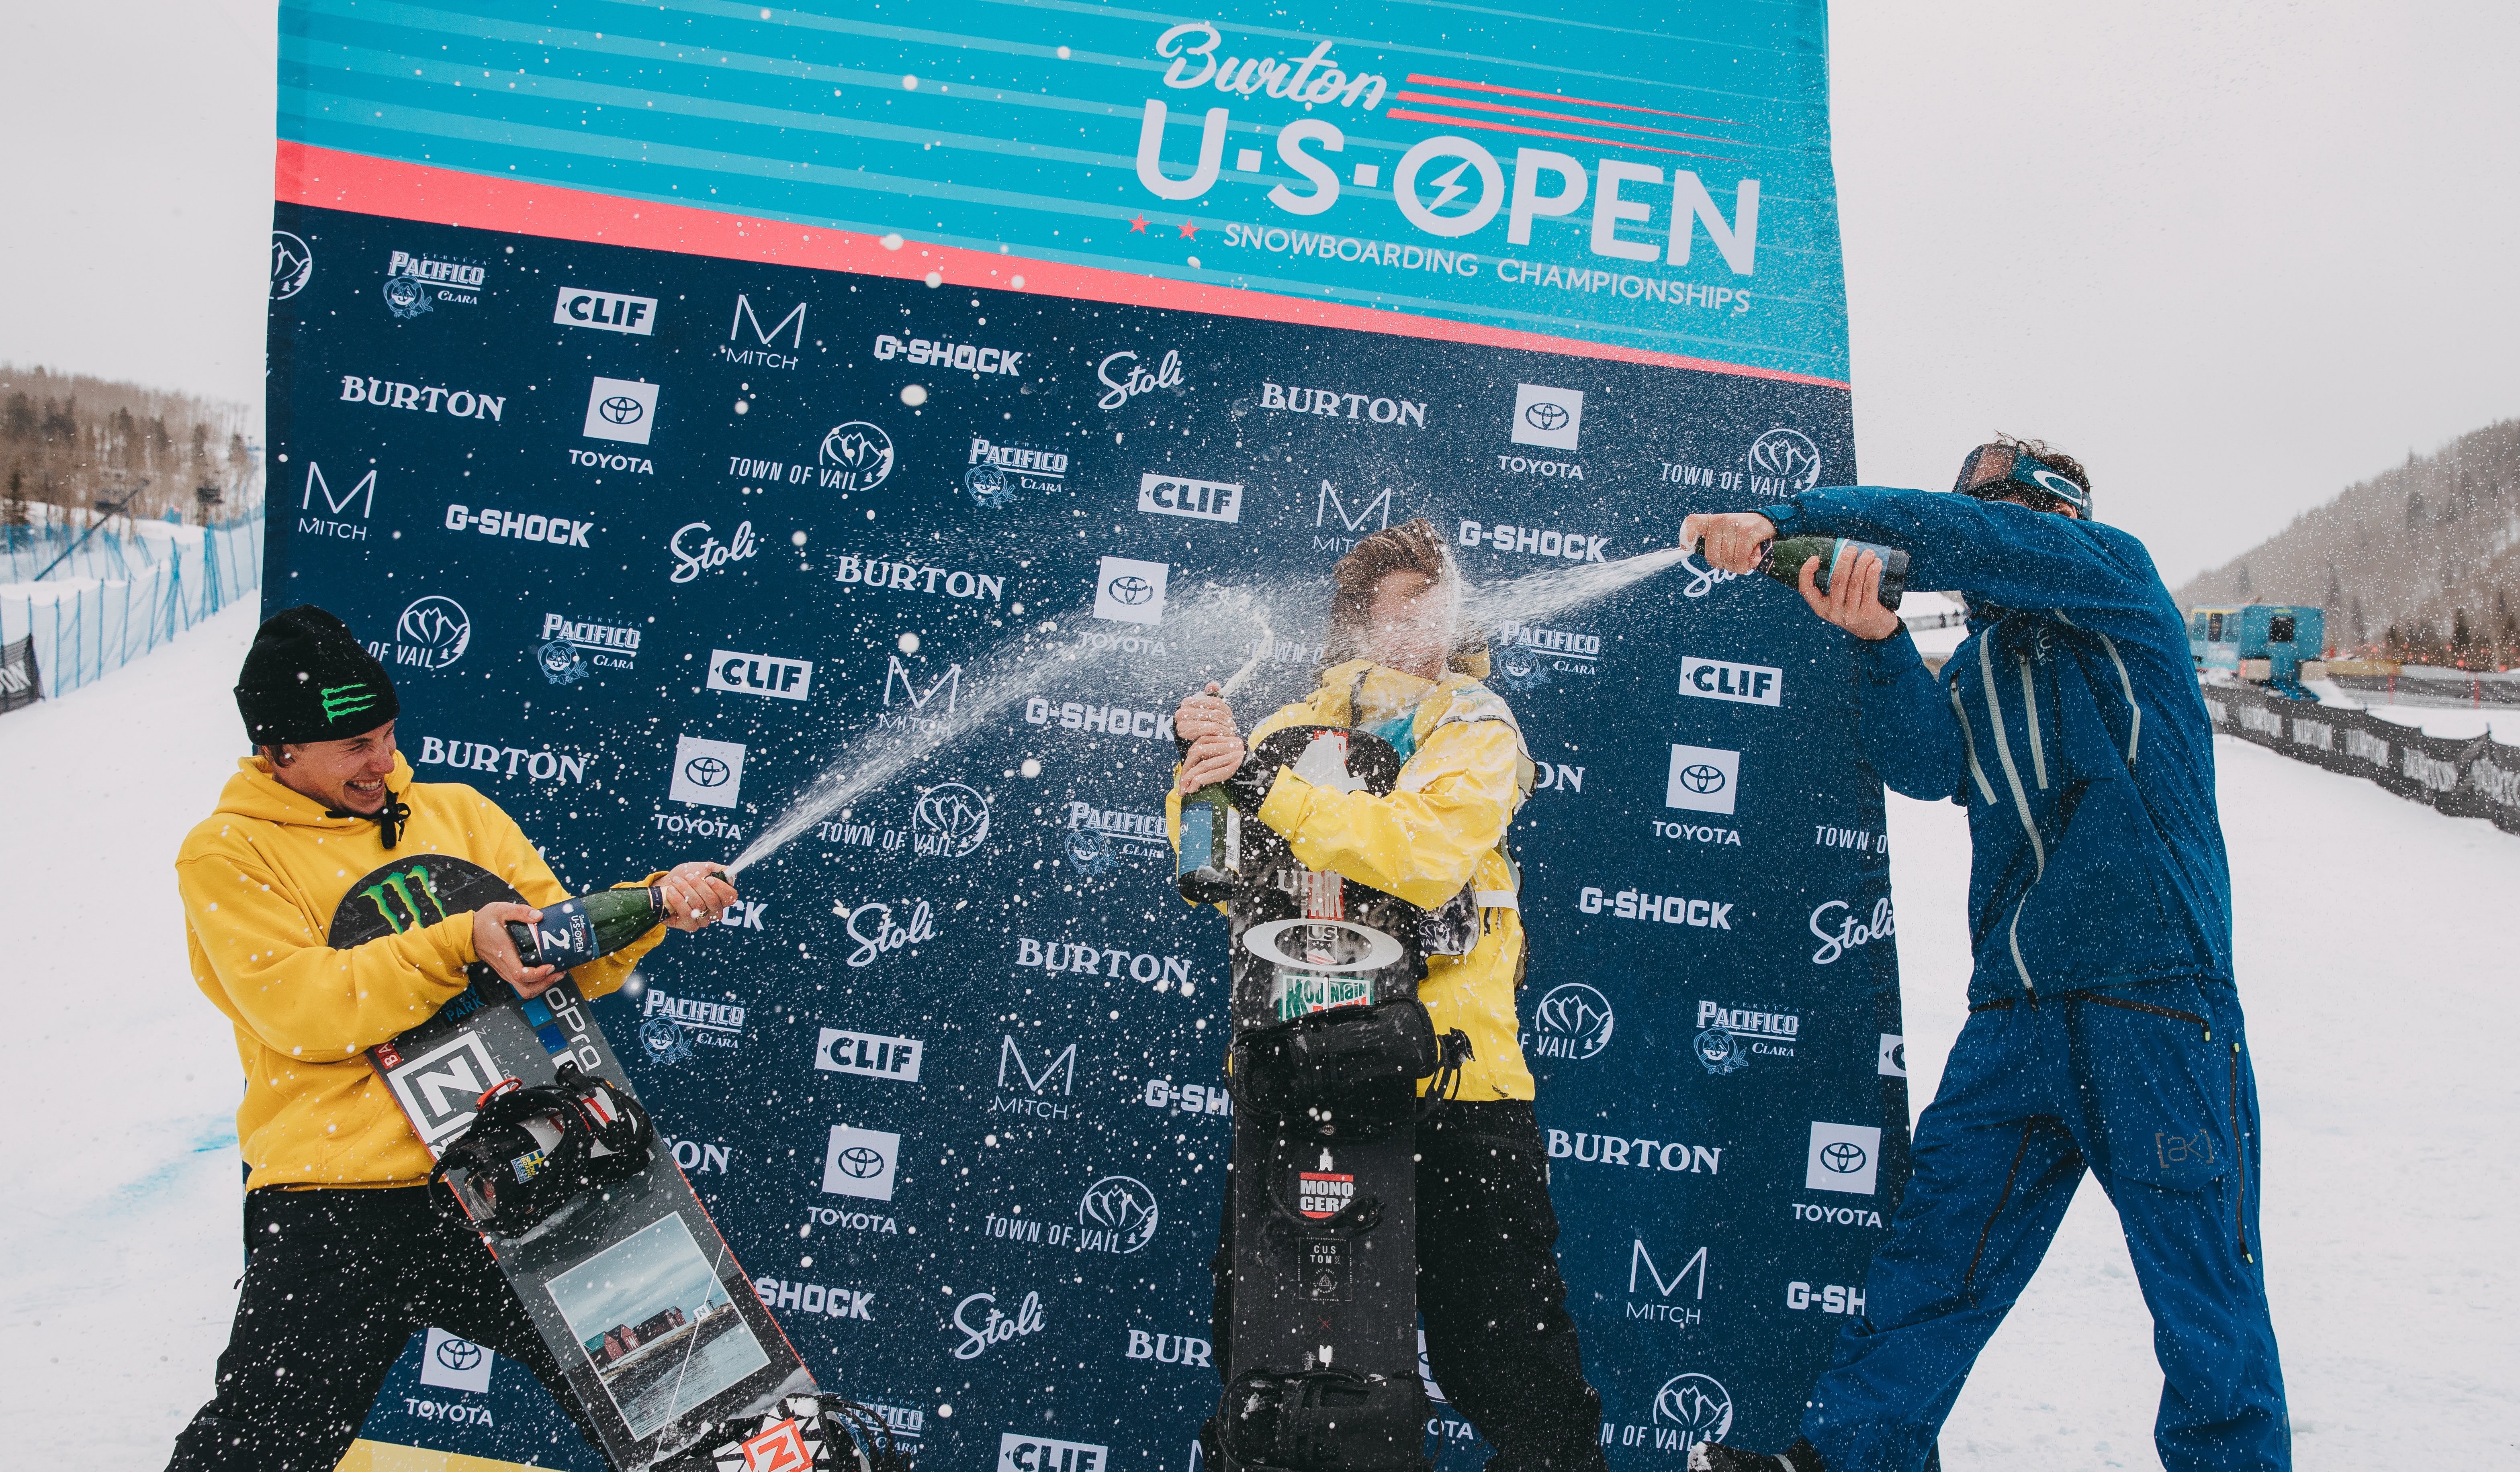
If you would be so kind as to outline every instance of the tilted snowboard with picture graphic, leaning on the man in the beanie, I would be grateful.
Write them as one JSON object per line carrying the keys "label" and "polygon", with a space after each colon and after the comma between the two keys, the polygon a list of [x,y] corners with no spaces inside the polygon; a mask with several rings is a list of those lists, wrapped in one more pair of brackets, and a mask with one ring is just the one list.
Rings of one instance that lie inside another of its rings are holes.
{"label": "tilted snowboard with picture graphic, leaning on the man in the beanie", "polygon": [[[393,860],[350,885],[328,943],[360,945],[496,900],[522,895],[469,860]],[[469,970],[471,983],[436,1016],[368,1049],[433,1157],[474,1122],[486,1089],[501,1079],[549,1084],[562,1061],[638,1099],[575,978],[527,1001],[489,965]],[[474,1215],[474,1202],[454,1195]],[[819,1396],[670,1152],[517,1235],[479,1215],[474,1228],[567,1371],[612,1467],[801,1472],[834,1454],[857,1464],[852,1447],[834,1444],[847,1434],[824,1427],[839,1406]]]}

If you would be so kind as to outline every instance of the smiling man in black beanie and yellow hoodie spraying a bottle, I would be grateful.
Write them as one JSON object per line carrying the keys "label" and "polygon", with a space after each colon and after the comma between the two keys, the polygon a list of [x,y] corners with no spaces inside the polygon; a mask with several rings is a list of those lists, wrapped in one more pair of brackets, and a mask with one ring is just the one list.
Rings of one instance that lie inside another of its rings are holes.
{"label": "smiling man in black beanie and yellow hoodie spraying a bottle", "polygon": [[[411,1333],[431,1326],[517,1359],[575,1417],[559,1361],[481,1238],[433,1210],[428,1149],[365,1059],[461,993],[474,963],[522,996],[552,988],[559,973],[524,968],[504,923],[539,920],[534,905],[570,892],[494,802],[411,781],[393,681],[330,612],[290,607],[262,625],[237,711],[255,756],[174,867],[194,983],[234,1023],[244,1064],[244,1285],[217,1399],[176,1437],[169,1469],[330,1472]],[[479,865],[529,902],[330,948],[343,895],[421,854]],[[708,865],[643,882],[663,887],[675,930],[736,897]],[[615,991],[660,938],[577,968],[577,986]]]}

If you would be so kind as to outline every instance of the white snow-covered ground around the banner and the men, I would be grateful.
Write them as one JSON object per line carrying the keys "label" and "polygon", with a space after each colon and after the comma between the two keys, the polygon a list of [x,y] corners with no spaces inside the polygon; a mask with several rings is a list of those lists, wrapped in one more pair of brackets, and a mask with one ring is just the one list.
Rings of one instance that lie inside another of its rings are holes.
{"label": "white snow-covered ground around the banner and the men", "polygon": [[[169,860],[239,754],[237,607],[66,701],[0,716],[0,1447],[154,1469],[234,1308],[237,1076],[184,970]],[[2265,1260],[2303,1469],[2520,1462],[2507,1323],[2520,839],[2218,741],[2258,1049]],[[1890,799],[1918,1099],[1963,1021],[1968,834]],[[76,837],[73,837],[76,834]],[[121,1001],[116,1001],[121,998]],[[2089,1185],[1943,1437],[1963,1469],[2155,1467],[2150,1321]],[[108,1409],[111,1406],[111,1409]],[[76,1452],[73,1452],[76,1447]],[[968,1472],[968,1469],[960,1469]]]}

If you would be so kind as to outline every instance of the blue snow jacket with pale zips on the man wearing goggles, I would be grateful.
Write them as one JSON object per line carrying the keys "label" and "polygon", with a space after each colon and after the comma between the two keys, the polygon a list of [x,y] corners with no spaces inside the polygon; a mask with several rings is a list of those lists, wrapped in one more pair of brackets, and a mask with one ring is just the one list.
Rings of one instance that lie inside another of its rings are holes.
{"label": "blue snow jacket with pale zips on the man wearing goggles", "polygon": [[2230,986],[2213,726],[2145,544],[1950,492],[1817,489],[1759,512],[1779,537],[1903,547],[1908,587],[1968,597],[1940,681],[1908,630],[1860,643],[1872,769],[1968,807],[1968,1001]]}

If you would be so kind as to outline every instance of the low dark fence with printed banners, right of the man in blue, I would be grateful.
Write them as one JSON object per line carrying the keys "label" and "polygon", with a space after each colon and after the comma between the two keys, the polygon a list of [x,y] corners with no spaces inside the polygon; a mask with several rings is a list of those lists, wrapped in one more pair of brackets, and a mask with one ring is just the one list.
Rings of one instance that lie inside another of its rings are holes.
{"label": "low dark fence with printed banners, right of the man in blue", "polygon": [[2313,706],[2210,686],[2205,711],[2230,731],[2311,766],[2369,776],[2449,817],[2482,817],[2520,834],[2520,746],[2485,736],[2427,736],[2349,706]]}

